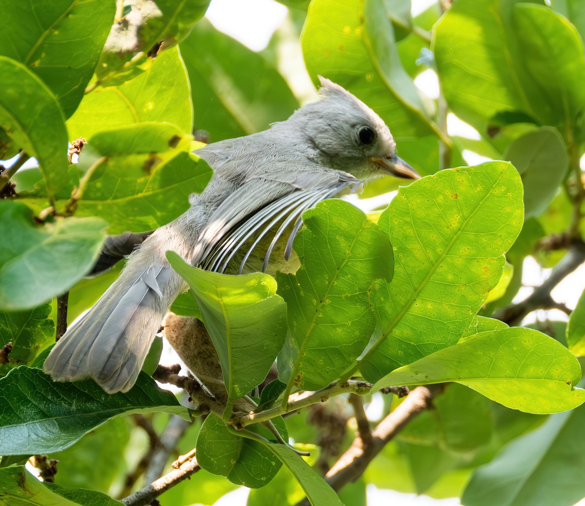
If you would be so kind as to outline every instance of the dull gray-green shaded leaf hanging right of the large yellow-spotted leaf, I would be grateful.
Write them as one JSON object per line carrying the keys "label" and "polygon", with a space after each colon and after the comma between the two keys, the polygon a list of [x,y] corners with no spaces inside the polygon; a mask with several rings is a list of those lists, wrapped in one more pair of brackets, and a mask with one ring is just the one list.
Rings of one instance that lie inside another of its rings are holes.
{"label": "dull gray-green shaded leaf hanging right of the large yellow-spotted leaf", "polygon": [[540,216],[569,168],[567,147],[556,128],[543,126],[510,143],[504,154],[522,177],[524,218]]}

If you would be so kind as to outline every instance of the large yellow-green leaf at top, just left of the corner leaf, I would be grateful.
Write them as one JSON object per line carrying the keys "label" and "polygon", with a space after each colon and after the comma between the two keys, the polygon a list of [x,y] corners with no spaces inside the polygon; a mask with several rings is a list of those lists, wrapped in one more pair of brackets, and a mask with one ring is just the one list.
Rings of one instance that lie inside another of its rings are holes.
{"label": "large yellow-green leaf at top, just left of the corner leaf", "polygon": [[443,94],[453,112],[482,134],[491,118],[505,112],[521,111],[541,123],[556,113],[522,66],[511,19],[521,1],[458,0],[435,25]]}

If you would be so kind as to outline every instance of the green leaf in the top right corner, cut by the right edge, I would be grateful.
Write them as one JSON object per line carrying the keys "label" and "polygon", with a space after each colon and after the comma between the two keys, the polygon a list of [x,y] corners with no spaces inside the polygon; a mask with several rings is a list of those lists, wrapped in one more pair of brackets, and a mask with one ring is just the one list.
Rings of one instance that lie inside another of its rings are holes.
{"label": "green leaf in the top right corner, cut by the right edge", "polygon": [[585,106],[583,40],[566,18],[542,5],[515,5],[512,19],[522,64],[545,94],[541,107],[574,128]]}

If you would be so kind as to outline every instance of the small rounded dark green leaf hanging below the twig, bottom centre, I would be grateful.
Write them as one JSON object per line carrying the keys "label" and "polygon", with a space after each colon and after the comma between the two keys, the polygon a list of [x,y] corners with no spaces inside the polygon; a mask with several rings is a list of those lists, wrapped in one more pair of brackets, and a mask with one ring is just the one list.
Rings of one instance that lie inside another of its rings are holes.
{"label": "small rounded dark green leaf hanging below the twig, bottom centre", "polygon": [[[286,426],[282,419],[273,419],[275,425],[286,435]],[[265,438],[274,437],[261,425],[254,425]],[[236,485],[260,488],[270,482],[280,469],[281,463],[259,442],[243,438],[229,431],[221,418],[210,414],[197,438],[197,462],[201,469],[209,473],[225,476]]]}

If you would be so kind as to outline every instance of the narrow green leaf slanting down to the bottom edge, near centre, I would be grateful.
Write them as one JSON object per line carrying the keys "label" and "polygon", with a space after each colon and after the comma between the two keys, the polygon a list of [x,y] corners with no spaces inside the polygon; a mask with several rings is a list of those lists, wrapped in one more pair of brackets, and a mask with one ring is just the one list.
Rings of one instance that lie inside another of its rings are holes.
{"label": "narrow green leaf slanting down to the bottom edge, near centre", "polygon": [[[245,435],[250,437],[253,435]],[[280,443],[259,441],[264,448],[269,449],[294,475],[298,483],[307,494],[312,506],[343,506],[343,502],[319,474],[309,467],[301,456],[291,448]],[[280,467],[280,466],[279,466]]]}

